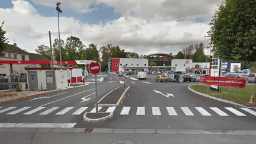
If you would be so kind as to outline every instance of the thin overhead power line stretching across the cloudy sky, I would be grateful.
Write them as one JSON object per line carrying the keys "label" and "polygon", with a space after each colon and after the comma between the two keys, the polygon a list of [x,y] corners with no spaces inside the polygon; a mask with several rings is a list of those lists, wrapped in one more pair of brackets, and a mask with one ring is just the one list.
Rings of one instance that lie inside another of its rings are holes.
{"label": "thin overhead power line stretching across the cloudy sky", "polygon": [[[146,23],[146,24],[153,24],[153,23],[160,23],[162,21],[169,21],[169,20],[175,20],[177,18],[183,18],[183,17],[188,17],[188,16],[191,16],[191,15],[197,15],[197,14],[202,14],[204,12],[209,12],[209,11],[214,11],[215,9],[211,9],[211,10],[208,10],[208,11],[202,11],[202,12],[197,12],[197,13],[194,13],[194,14],[189,14],[189,15],[183,15],[181,17],[175,17],[175,18],[169,18],[169,19],[166,19],[166,20],[161,20],[161,21],[153,21],[151,23]],[[110,29],[105,29],[105,30],[93,30],[93,31],[75,31],[75,32],[60,32],[60,33],[92,33],[92,32],[98,32],[98,31],[108,31],[108,30],[119,30],[119,29],[123,29],[123,28],[130,28],[130,27],[138,27],[140,25],[146,25],[146,24],[137,24],[137,25],[130,25],[130,26],[127,26],[127,27],[118,27],[118,28],[110,28]],[[57,33],[57,32],[53,32],[53,33]]]}

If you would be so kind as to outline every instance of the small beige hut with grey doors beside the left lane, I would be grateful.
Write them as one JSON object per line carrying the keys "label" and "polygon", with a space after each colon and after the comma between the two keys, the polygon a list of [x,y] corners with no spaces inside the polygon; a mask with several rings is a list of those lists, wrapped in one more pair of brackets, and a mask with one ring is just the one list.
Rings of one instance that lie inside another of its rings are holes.
{"label": "small beige hut with grey doors beside the left lane", "polygon": [[[62,68],[63,87],[68,87],[67,69]],[[25,68],[27,71],[27,81],[29,90],[50,90],[53,89],[52,68]],[[56,89],[61,89],[60,68],[54,68]]]}

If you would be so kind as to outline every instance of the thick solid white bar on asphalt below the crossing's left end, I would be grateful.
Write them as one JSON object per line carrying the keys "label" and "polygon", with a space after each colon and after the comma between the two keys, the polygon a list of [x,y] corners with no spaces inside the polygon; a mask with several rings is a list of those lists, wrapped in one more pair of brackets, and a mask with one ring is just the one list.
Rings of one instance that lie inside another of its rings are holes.
{"label": "thick solid white bar on asphalt below the crossing's left end", "polygon": [[15,127],[23,128],[72,128],[76,123],[17,123]]}

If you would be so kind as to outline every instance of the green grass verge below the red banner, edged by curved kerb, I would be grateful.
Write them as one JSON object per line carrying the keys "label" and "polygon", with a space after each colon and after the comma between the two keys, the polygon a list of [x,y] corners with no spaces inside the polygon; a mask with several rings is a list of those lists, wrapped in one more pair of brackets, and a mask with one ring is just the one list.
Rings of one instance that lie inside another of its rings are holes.
{"label": "green grass verge below the red banner, edged by curved kerb", "polygon": [[191,85],[190,88],[203,94],[208,94],[212,97],[221,98],[223,100],[233,101],[247,107],[255,107],[249,103],[251,96],[255,94],[255,85],[247,85],[246,88],[228,88],[221,87],[220,91],[207,90],[205,85]]}

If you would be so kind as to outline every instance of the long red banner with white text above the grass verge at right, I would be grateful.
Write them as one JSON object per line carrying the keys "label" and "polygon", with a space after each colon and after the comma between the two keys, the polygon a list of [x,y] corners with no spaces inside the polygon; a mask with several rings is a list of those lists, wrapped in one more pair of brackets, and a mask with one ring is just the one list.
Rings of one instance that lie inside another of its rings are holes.
{"label": "long red banner with white text above the grass verge at right", "polygon": [[201,76],[200,84],[216,85],[220,87],[245,88],[246,79]]}

